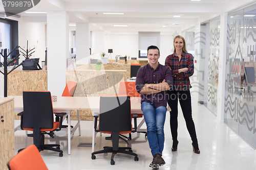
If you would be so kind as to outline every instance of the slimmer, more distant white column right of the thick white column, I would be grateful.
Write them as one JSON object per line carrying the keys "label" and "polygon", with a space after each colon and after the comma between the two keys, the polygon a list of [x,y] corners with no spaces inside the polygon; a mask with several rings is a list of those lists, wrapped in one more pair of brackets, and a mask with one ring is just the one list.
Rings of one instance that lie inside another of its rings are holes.
{"label": "slimmer, more distant white column right of the thick white column", "polygon": [[[90,59],[90,32],[88,22],[76,23],[76,62],[83,59],[89,64]],[[86,59],[84,59],[86,58]]]}

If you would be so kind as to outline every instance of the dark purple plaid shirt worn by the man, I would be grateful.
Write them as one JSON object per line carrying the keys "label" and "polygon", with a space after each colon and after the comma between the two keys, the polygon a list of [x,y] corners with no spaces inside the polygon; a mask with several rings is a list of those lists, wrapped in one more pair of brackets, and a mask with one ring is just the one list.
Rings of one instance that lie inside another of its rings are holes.
{"label": "dark purple plaid shirt worn by the man", "polygon": [[[169,86],[172,86],[172,73],[168,67],[158,63],[157,69],[154,70],[150,64],[147,64],[144,67],[140,67],[137,72],[136,90],[138,93],[140,93],[141,89],[144,87],[144,84],[158,84],[162,83],[164,79],[167,81],[166,83],[168,83]],[[161,91],[154,94],[140,94],[141,103],[146,101],[150,104],[153,104],[154,102],[155,107],[167,106],[166,94],[167,91]]]}

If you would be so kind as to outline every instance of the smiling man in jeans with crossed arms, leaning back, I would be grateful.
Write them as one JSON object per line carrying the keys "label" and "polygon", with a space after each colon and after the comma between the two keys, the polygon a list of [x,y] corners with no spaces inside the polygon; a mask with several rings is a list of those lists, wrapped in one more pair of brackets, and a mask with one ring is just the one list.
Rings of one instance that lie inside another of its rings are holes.
{"label": "smiling man in jeans with crossed arms, leaning back", "polygon": [[173,84],[169,67],[158,62],[160,51],[157,46],[147,47],[149,63],[137,72],[136,90],[141,96],[141,110],[147,126],[147,139],[153,155],[150,167],[156,168],[165,161],[162,158],[164,147],[164,122],[167,106],[167,92]]}

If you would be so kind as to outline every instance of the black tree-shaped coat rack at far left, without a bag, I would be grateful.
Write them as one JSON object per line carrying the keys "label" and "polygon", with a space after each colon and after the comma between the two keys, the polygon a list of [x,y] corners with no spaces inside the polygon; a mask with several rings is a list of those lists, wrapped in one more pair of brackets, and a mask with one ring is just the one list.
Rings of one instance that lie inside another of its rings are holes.
{"label": "black tree-shaped coat rack at far left, without a bag", "polygon": [[9,63],[7,63],[7,58],[8,58],[8,56],[10,56],[10,54],[12,54],[12,52],[13,52],[14,50],[16,50],[18,47],[19,47],[19,46],[17,45],[17,46],[11,51],[11,53],[9,53],[8,55],[7,55],[7,48],[4,49],[4,53],[3,53],[3,49],[1,50],[1,53],[0,53],[1,56],[4,57],[4,63],[1,63],[1,62],[0,62],[0,64],[4,66],[4,72],[2,72],[2,71],[0,70],[0,72],[4,75],[4,97],[7,97],[7,75],[9,75],[10,72],[12,72],[14,69],[16,69],[17,67],[19,67],[20,65],[23,64],[23,62],[20,63],[20,64],[17,65],[17,66],[15,66],[15,65],[13,64],[13,65],[14,65],[13,68],[12,68],[9,72],[7,72],[7,71],[8,71],[8,70],[7,70],[7,66],[10,65],[12,62],[15,62],[15,61],[17,61],[17,60],[19,59],[19,57],[18,57],[19,54],[17,54],[17,55],[15,56],[15,58],[14,58],[12,61],[10,61]]}

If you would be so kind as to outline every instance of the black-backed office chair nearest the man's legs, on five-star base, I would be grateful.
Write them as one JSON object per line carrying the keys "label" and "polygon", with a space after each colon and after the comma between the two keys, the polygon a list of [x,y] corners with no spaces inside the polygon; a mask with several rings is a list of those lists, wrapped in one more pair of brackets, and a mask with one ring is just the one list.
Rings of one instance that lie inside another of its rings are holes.
{"label": "black-backed office chair nearest the man's legs, on five-star base", "polygon": [[111,133],[112,147],[104,147],[101,151],[93,152],[92,159],[96,159],[95,154],[112,153],[111,165],[114,165],[115,154],[123,153],[135,156],[135,161],[139,160],[138,155],[133,153],[130,147],[118,146],[119,134],[132,131],[130,96],[100,96],[99,130],[97,121],[94,128],[96,132]]}

